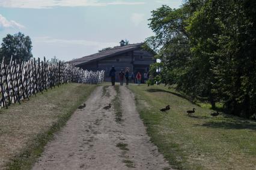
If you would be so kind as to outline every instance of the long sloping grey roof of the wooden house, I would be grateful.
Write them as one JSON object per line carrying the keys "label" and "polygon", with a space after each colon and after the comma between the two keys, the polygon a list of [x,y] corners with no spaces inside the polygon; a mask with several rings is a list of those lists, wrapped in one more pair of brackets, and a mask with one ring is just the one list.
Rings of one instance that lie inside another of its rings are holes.
{"label": "long sloping grey roof of the wooden house", "polygon": [[141,47],[142,44],[143,42],[137,43],[137,44],[128,44],[128,45],[124,45],[123,47],[118,46],[118,47],[110,48],[108,50],[100,51],[99,53],[91,54],[89,56],[84,56],[79,59],[71,60],[69,62],[73,63],[73,65],[75,66],[79,66],[84,63],[90,63],[96,60],[104,59],[106,57],[112,57],[118,54],[126,53],[128,51],[136,50],[137,48]]}

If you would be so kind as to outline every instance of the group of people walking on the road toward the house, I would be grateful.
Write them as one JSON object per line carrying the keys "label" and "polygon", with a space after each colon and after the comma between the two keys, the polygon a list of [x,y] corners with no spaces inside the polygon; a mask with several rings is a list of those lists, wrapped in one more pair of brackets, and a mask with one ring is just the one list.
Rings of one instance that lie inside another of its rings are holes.
{"label": "group of people walking on the road toward the house", "polygon": [[[109,72],[109,77],[111,77],[111,83],[112,86],[115,86],[115,67],[112,66],[111,71]],[[145,75],[144,75],[145,76]],[[137,72],[136,76],[133,74],[129,74],[129,69],[126,68],[125,71],[123,69],[121,69],[121,71],[119,72],[119,80],[120,80],[120,85],[123,86],[124,84],[124,78],[126,80],[126,85],[129,84],[129,81],[132,80],[133,83],[136,83],[140,86],[141,85],[141,80],[142,80],[142,75],[141,72]]]}

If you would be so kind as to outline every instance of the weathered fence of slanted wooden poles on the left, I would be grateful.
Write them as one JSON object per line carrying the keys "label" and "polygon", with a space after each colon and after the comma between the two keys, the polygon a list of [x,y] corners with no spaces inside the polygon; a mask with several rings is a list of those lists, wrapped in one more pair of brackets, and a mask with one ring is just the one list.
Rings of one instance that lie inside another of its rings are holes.
{"label": "weathered fence of slanted wooden poles on the left", "polygon": [[29,99],[29,96],[36,93],[43,93],[52,87],[64,83],[102,83],[104,71],[87,71],[76,68],[70,63],[57,59],[51,61],[35,58],[27,62],[12,60],[5,63],[4,59],[0,68],[0,108]]}

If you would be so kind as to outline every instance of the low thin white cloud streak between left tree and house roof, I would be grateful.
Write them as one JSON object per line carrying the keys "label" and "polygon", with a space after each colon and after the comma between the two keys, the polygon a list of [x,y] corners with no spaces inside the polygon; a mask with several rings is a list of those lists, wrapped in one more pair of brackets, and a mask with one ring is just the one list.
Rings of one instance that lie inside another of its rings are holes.
{"label": "low thin white cloud streak between left tree and house roof", "polygon": [[66,39],[58,39],[52,37],[34,37],[32,38],[32,42],[35,43],[46,43],[46,44],[59,44],[62,46],[69,45],[84,45],[87,47],[102,48],[106,47],[114,47],[118,45],[117,42],[97,42],[97,41],[88,41],[88,40],[66,40]]}

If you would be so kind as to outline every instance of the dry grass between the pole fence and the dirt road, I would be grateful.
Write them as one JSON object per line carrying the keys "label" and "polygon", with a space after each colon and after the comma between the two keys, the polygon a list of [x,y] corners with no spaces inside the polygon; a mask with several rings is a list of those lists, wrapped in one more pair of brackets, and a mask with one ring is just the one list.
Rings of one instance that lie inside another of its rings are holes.
{"label": "dry grass between the pole fence and the dirt road", "polygon": [[30,169],[96,85],[64,84],[0,111],[0,169]]}

